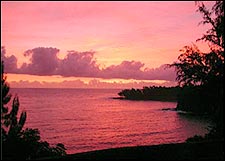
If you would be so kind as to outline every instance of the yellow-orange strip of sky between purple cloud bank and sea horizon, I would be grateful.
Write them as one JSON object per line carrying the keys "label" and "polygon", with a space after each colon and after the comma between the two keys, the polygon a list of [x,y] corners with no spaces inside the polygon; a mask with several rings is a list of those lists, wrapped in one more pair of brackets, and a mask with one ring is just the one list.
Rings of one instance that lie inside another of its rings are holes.
{"label": "yellow-orange strip of sky between purple cloud bank and sea horizon", "polygon": [[142,88],[143,86],[175,86],[166,80],[103,79],[86,77],[34,76],[7,74],[13,88]]}

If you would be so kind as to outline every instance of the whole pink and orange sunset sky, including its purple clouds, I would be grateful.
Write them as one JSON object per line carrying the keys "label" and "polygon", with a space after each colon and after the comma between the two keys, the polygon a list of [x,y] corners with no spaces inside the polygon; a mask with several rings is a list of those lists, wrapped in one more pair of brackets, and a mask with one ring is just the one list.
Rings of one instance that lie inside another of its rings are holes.
{"label": "whole pink and orange sunset sky, including its purple clouds", "polygon": [[7,79],[13,87],[176,85],[165,64],[210,27],[198,26],[196,9],[194,1],[1,1]]}

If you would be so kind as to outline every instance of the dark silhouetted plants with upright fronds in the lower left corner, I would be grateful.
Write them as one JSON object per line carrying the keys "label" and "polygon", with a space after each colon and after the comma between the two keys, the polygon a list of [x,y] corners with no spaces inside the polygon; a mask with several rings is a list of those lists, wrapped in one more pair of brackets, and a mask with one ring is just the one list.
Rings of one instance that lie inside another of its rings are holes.
{"label": "dark silhouetted plants with upright fronds in the lower left corner", "polygon": [[9,94],[9,84],[4,75],[4,65],[1,62],[1,159],[27,160],[40,157],[66,155],[63,144],[51,147],[48,142],[41,141],[38,129],[23,129],[27,114],[22,111],[18,119],[19,98],[13,98],[12,107],[7,105],[12,97]]}

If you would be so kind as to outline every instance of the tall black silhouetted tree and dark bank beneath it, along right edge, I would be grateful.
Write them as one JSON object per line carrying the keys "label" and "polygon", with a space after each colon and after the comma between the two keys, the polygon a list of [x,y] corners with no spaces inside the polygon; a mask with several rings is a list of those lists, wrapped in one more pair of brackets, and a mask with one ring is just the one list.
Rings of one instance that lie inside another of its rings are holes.
{"label": "tall black silhouetted tree and dark bank beneath it, along right edge", "polygon": [[[211,10],[202,2],[196,4],[197,12],[203,15],[200,24],[211,25],[206,34],[196,41],[208,43],[210,52],[201,52],[195,44],[185,46],[178,62],[169,65],[176,68],[176,79],[183,87],[177,109],[211,114],[216,126],[205,138],[223,138],[224,3],[216,1]],[[196,139],[200,138],[193,138]]]}

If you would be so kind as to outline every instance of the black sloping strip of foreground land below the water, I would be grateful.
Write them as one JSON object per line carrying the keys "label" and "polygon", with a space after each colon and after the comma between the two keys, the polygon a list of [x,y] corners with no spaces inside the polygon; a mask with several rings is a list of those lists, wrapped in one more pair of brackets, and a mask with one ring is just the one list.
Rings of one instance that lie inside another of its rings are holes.
{"label": "black sloping strip of foreground land below the water", "polygon": [[224,160],[223,141],[123,147],[42,160]]}

